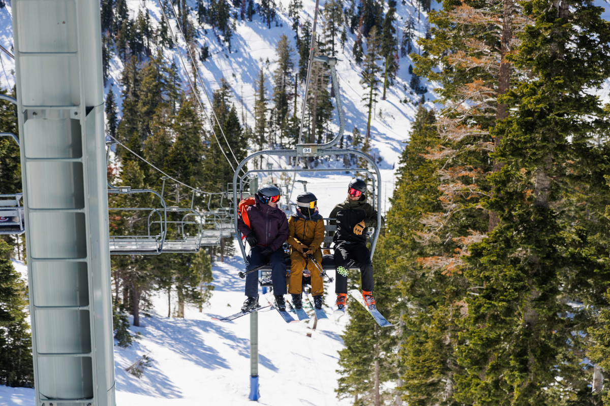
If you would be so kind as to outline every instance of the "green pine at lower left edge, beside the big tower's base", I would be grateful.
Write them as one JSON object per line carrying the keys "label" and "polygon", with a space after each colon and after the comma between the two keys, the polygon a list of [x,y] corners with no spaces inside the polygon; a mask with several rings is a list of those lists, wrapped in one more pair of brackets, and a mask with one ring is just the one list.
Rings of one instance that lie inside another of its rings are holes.
{"label": "green pine at lower left edge, beside the big tower's base", "polygon": [[0,240],[0,383],[34,387],[32,337],[27,324],[27,288],[9,260],[12,247]]}

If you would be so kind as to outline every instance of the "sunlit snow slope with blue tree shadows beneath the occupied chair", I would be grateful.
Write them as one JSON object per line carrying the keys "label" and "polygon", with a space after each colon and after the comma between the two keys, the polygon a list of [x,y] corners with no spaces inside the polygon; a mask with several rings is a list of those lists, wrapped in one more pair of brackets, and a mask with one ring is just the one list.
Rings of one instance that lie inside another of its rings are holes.
{"label": "sunlit snow slope with blue tree shadows beneath the occupied chair", "polygon": [[[237,276],[240,270],[240,257],[215,262],[210,307],[199,313],[187,306],[184,319],[167,317],[167,295],[152,298],[154,309],[141,313],[140,327],[131,327],[142,338],[127,349],[115,346],[117,405],[252,404],[248,400],[250,317],[229,323],[211,320],[239,312],[245,299],[243,279]],[[313,320],[287,324],[275,310],[259,313],[259,404],[351,404],[339,401],[334,392],[339,378],[337,351],[343,348],[339,335],[348,316],[335,321],[329,307],[325,310],[329,320],[318,321],[315,331]],[[371,318],[371,327],[373,323]],[[140,379],[124,370],[146,354],[152,365]],[[34,390],[0,386],[0,406],[9,405],[34,406]]]}

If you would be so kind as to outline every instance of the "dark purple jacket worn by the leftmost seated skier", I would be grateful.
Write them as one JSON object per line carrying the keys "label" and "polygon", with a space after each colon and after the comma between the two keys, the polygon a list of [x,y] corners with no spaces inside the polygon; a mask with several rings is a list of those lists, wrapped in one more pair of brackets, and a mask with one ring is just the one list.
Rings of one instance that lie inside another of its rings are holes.
{"label": "dark purple jacket worn by the leftmost seated skier", "polygon": [[242,220],[242,215],[237,216],[237,227],[244,236],[254,233],[259,243],[257,246],[268,245],[273,251],[282,247],[288,238],[288,219],[283,211],[278,208],[265,205],[254,196],[256,205],[248,206],[248,219],[250,228]]}

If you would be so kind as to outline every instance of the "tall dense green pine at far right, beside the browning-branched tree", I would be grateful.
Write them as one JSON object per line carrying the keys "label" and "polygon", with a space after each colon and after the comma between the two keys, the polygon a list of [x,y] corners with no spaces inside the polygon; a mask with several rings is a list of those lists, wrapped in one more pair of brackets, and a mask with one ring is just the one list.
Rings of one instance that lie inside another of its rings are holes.
{"label": "tall dense green pine at far right, beside the browning-branched tree", "polygon": [[[588,2],[523,4],[533,23],[510,58],[529,80],[501,98],[515,113],[495,129],[502,136],[495,158],[504,165],[489,177],[496,194],[485,202],[499,222],[471,249],[472,268],[465,274],[473,285],[486,284],[479,296],[468,298],[464,339],[476,335],[477,342],[462,346],[459,360],[468,372],[484,371],[486,379],[464,374],[458,381],[463,401],[482,404],[492,393],[495,402],[524,404],[533,396],[537,402],[554,402],[559,396],[554,382],[564,382],[561,391],[574,404],[595,402],[586,389],[594,368],[581,355],[587,341],[574,332],[592,323],[585,307],[600,303],[603,289],[595,295],[572,281],[588,279],[593,286],[597,278],[591,267],[603,280],[610,269],[590,255],[601,248],[591,233],[593,222],[576,221],[593,212],[574,206],[578,200],[572,198],[580,195],[575,187],[595,187],[583,182],[590,177],[585,175],[589,168],[578,164],[584,156],[594,158],[594,170],[607,165],[590,142],[600,130],[607,132],[606,111],[597,97],[582,91],[597,88],[610,73],[610,27],[602,23],[600,11]],[[569,181],[576,180],[572,173],[581,174],[578,186]],[[524,249],[526,261],[518,259]],[[597,255],[602,252],[608,248]],[[583,310],[567,304],[574,297],[586,304]],[[497,360],[490,363],[492,353]]]}

